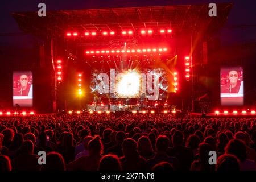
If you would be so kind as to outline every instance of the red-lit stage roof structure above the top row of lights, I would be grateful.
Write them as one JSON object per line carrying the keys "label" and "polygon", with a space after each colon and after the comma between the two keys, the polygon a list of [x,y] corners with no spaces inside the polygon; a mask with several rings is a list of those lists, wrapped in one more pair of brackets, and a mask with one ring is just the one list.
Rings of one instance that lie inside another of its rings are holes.
{"label": "red-lit stage roof structure above the top row of lights", "polygon": [[217,17],[209,17],[208,4],[152,7],[125,7],[88,10],[37,11],[12,13],[22,31],[44,36],[64,36],[67,31],[119,31],[172,28],[175,32],[219,30],[233,3],[217,3]]}

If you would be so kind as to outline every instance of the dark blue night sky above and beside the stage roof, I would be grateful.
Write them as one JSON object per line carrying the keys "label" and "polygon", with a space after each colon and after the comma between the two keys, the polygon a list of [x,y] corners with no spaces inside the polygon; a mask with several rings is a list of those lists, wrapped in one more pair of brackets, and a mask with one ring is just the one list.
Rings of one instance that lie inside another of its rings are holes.
{"label": "dark blue night sky above and beside the stage roof", "polygon": [[[135,6],[161,6],[161,5],[185,5],[211,2],[232,2],[233,9],[228,16],[227,25],[251,24],[256,25],[256,1],[230,0],[230,1],[185,1],[185,0],[2,0],[0,5],[0,46],[17,45],[23,46],[31,40],[30,36],[5,36],[3,34],[21,32],[11,13],[14,11],[37,11],[38,3],[46,3],[47,11],[51,10],[76,10],[76,9],[99,9],[108,7],[135,7]],[[256,28],[233,28],[222,30],[223,43],[255,42]],[[27,46],[29,44],[26,44]],[[32,46],[32,44],[30,45]]]}

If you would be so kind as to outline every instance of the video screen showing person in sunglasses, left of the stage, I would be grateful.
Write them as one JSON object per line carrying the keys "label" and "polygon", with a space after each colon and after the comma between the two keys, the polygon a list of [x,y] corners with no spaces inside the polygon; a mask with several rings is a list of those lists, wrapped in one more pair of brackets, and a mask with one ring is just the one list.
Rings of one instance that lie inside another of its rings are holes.
{"label": "video screen showing person in sunglasses, left of the stage", "polygon": [[13,105],[14,107],[32,107],[33,82],[32,72],[13,72]]}

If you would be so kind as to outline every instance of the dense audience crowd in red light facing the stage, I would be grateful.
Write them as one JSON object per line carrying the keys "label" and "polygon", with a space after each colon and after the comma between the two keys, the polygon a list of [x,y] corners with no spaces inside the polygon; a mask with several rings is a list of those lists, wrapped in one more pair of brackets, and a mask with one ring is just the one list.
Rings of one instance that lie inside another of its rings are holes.
{"label": "dense audience crowd in red light facing the stage", "polygon": [[[46,152],[46,164],[38,162]],[[217,164],[209,164],[209,152]],[[0,171],[252,171],[255,118],[168,114],[0,118]]]}

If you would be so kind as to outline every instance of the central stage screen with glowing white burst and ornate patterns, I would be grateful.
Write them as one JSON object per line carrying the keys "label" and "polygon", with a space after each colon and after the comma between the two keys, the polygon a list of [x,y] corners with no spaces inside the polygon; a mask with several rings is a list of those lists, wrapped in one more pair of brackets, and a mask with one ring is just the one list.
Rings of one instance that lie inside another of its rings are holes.
{"label": "central stage screen with glowing white burst and ornate patterns", "polygon": [[96,96],[108,98],[140,98],[149,100],[167,97],[172,92],[173,76],[158,69],[93,69],[90,90]]}

